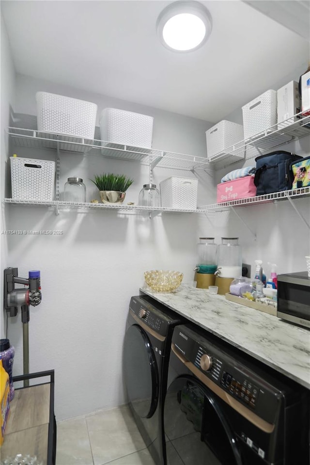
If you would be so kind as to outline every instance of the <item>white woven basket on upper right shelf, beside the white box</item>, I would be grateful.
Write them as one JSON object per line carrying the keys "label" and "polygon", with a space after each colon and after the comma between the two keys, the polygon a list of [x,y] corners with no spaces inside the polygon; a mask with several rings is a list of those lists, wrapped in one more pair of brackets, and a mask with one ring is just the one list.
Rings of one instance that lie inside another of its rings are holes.
{"label": "white woven basket on upper right shelf, beside the white box", "polygon": [[242,107],[244,138],[277,124],[277,91],[267,90]]}

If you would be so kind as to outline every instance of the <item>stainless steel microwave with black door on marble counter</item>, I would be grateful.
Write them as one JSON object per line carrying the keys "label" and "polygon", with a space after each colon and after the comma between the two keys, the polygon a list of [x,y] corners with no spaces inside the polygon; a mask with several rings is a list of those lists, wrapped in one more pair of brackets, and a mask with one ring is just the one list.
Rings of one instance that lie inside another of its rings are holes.
{"label": "stainless steel microwave with black door on marble counter", "polygon": [[310,329],[310,277],[308,272],[278,274],[277,316]]}

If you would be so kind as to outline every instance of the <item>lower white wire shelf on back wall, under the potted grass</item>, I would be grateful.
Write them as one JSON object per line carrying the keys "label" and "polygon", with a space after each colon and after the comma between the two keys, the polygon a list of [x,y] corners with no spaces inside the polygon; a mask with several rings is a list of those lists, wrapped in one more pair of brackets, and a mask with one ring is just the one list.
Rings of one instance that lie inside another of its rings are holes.
{"label": "lower white wire shelf on back wall, under the potted grass", "polygon": [[103,203],[83,203],[83,202],[65,202],[61,200],[28,200],[28,199],[11,199],[5,198],[4,203],[13,205],[23,205],[27,207],[54,207],[58,209],[80,209],[80,210],[124,210],[124,211],[145,211],[145,212],[180,212],[180,213],[203,213],[201,209],[184,209],[184,208],[165,208],[165,207],[142,207],[140,205],[124,204],[103,204]]}

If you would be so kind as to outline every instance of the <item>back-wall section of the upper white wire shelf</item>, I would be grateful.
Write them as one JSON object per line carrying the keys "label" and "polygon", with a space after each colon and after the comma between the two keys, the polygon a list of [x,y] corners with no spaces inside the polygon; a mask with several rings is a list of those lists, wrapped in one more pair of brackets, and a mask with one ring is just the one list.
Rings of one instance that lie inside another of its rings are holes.
{"label": "back-wall section of the upper white wire shelf", "polygon": [[121,160],[134,160],[147,163],[153,169],[158,167],[183,168],[186,170],[209,171],[207,158],[167,152],[153,148],[133,147],[96,139],[51,132],[41,132],[33,129],[7,128],[7,134],[12,138],[16,147],[40,148],[47,150],[61,150],[63,152],[81,152],[98,154]]}

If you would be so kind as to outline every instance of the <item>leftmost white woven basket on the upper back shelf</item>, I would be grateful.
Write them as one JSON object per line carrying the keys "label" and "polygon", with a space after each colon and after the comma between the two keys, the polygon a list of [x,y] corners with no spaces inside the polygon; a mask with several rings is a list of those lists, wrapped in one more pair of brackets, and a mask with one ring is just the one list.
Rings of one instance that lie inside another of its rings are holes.
{"label": "leftmost white woven basket on the upper back shelf", "polygon": [[97,105],[77,98],[37,92],[38,131],[93,139]]}

